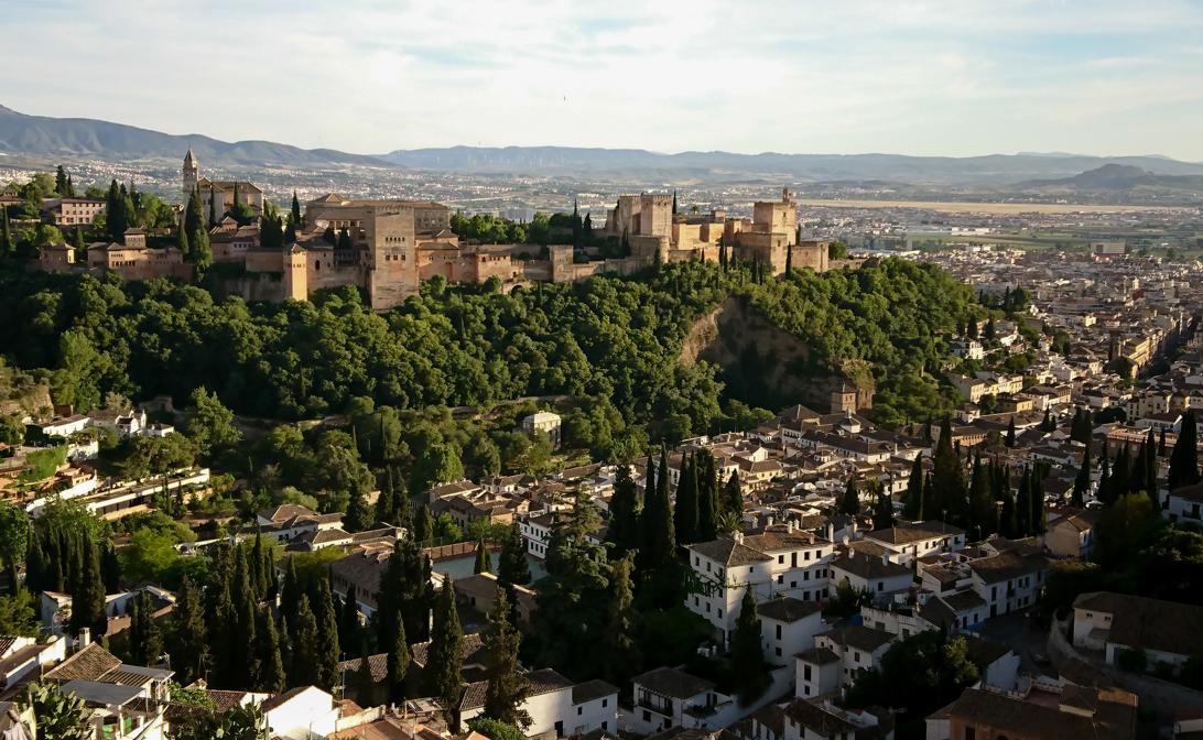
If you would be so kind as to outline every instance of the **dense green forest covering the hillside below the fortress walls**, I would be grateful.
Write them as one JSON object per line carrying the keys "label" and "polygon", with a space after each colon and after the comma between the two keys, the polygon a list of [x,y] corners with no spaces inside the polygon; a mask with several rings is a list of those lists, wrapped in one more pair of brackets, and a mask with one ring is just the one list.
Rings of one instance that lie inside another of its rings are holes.
{"label": "dense green forest covering the hillside below the fortress walls", "polygon": [[237,414],[274,420],[342,413],[352,398],[405,410],[568,396],[605,399],[651,439],[671,442],[746,415],[722,397],[716,368],[677,361],[692,322],[739,294],[811,344],[818,362],[866,361],[879,421],[952,407],[934,371],[943,337],[983,310],[968,289],[902,260],[755,276],[688,262],[509,295],[434,279],[375,314],[351,288],[312,303],[248,304],[166,280],[2,267],[0,343],[11,365],[43,373],[55,402],[81,412],[109,392],[183,399],[196,387]]}

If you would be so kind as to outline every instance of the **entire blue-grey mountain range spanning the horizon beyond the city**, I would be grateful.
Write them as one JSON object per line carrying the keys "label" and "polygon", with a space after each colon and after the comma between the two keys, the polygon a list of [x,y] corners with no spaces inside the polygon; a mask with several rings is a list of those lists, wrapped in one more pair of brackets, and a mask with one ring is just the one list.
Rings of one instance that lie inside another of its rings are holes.
{"label": "entire blue-grey mountain range spanning the horizon beyond the city", "polygon": [[[0,106],[0,153],[31,158],[83,156],[123,162],[178,161],[189,148],[218,167],[407,167],[434,172],[532,174],[642,182],[848,183],[861,187],[1116,190],[1156,187],[1196,190],[1203,162],[1161,155],[1091,156],[1063,153],[984,156],[901,154],[736,154],[579,147],[446,147],[350,154],[268,141],[224,142],[171,135],[89,118],[28,116]],[[2,160],[0,160],[2,161]],[[1184,178],[1184,179],[1174,179]]]}

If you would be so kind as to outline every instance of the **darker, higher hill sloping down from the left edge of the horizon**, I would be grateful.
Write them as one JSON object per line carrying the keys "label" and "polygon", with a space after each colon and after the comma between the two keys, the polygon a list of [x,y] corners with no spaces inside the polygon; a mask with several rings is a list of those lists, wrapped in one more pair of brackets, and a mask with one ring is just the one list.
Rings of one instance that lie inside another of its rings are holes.
{"label": "darker, higher hill sloping down from the left edge of the horizon", "polygon": [[26,116],[0,106],[0,152],[109,160],[183,159],[192,152],[208,166],[395,166],[374,156],[301,149],[269,141],[224,142],[198,134],[176,136],[91,118]]}

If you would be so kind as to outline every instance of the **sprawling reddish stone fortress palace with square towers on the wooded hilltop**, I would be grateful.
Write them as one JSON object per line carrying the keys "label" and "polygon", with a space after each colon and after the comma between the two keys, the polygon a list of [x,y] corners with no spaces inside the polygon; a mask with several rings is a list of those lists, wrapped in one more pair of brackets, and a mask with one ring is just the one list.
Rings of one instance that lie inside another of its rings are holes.
{"label": "sprawling reddish stone fortress palace with square towers on the wooded hilltop", "polygon": [[[185,197],[198,190],[203,209],[225,213],[238,197],[262,213],[263,194],[249,182],[209,180],[200,176],[192,152],[182,170]],[[346,230],[351,247],[338,247],[330,231]],[[598,236],[623,238],[629,256],[576,261],[571,244],[466,243],[451,231],[451,211],[440,203],[404,200],[348,200],[324,195],[304,206],[297,241],[283,249],[259,243],[256,223],[239,226],[226,217],[211,229],[215,264],[241,264],[244,274],[231,292],[251,301],[307,300],[313,291],[355,285],[372,308],[383,310],[415,295],[422,280],[443,276],[452,283],[496,278],[503,291],[537,282],[569,283],[597,274],[632,274],[657,261],[719,260],[722,245],[731,259],[769,265],[774,274],[795,268],[828,270],[828,243],[798,239],[798,206],[788,189],[781,200],[754,203],[752,218],[728,218],[723,211],[674,214],[672,196],[621,195]],[[588,250],[583,250],[588,255]],[[129,280],[154,277],[190,279],[192,266],[173,247],[152,248],[131,230],[122,243],[88,247],[79,264],[66,244],[43,248],[41,267],[51,271],[112,271]]]}

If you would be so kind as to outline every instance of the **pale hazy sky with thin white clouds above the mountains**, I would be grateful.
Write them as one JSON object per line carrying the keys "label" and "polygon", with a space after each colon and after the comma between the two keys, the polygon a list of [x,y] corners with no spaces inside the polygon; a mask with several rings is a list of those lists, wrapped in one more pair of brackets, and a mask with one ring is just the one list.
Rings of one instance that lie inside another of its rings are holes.
{"label": "pale hazy sky with thin white clouds above the mountains", "polygon": [[0,103],[172,134],[1203,160],[1203,0],[0,5]]}

